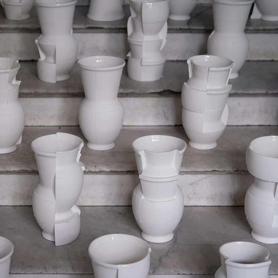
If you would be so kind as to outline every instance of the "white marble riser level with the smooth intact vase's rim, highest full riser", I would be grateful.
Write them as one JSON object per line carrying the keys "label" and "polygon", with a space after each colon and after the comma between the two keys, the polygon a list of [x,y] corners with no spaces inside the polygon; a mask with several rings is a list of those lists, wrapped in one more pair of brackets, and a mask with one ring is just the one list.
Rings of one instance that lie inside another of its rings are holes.
{"label": "white marble riser level with the smooth intact vase's rim, highest full riser", "polygon": [[[19,60],[39,58],[35,39],[38,33],[2,33],[5,43],[2,57]],[[78,59],[94,55],[110,55],[123,59],[129,51],[126,33],[75,33],[78,40]],[[163,53],[168,60],[187,60],[190,56],[205,54],[209,33],[169,33]],[[249,33],[248,60],[278,60],[278,33]],[[178,43],[177,43],[178,42]]]}

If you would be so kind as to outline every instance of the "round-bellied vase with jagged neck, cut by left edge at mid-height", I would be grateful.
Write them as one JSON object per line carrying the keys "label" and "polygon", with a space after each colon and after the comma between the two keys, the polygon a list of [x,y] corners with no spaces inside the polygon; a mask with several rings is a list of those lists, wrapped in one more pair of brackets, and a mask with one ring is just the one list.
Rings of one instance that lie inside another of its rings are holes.
{"label": "round-bellied vase with jagged neck, cut by left edge at mid-height", "polygon": [[0,154],[14,152],[21,143],[25,114],[18,101],[19,67],[16,59],[0,58]]}

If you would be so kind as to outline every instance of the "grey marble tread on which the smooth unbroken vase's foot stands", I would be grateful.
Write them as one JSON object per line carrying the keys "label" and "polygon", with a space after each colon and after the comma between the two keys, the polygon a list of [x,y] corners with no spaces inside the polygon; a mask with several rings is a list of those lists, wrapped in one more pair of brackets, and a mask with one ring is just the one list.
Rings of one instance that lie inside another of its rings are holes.
{"label": "grey marble tread on which the smooth unbroken vase's foot stands", "polygon": [[[31,142],[43,135],[66,132],[75,134],[86,140],[79,127],[25,127],[21,145],[16,152],[0,156],[0,173],[36,172],[37,166],[31,150]],[[213,150],[196,150],[187,146],[183,156],[181,173],[237,173],[246,172],[245,152],[249,143],[260,136],[277,135],[277,126],[228,126],[217,141]],[[173,126],[134,126],[123,127],[115,141],[115,148],[105,152],[82,148],[81,161],[85,164],[85,173],[132,173],[136,172],[134,152],[131,148],[133,140],[152,134],[170,135],[188,142],[183,127]]]}

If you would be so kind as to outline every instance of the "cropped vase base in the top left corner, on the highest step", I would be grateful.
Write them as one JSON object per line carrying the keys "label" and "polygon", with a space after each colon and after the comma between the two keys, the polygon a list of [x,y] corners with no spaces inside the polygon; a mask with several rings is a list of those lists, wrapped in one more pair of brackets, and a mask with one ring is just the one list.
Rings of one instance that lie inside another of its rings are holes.
{"label": "cropped vase base in the top left corner, on the highest step", "polygon": [[1,0],[7,19],[24,20],[30,17],[34,0]]}

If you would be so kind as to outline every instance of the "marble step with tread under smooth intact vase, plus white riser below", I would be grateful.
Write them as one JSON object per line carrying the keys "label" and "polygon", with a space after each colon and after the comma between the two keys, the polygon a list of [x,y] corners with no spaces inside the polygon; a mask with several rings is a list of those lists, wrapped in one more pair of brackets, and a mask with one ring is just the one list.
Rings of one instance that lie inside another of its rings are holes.
{"label": "marble step with tread under smooth intact vase, plus white riser below", "polygon": [[[31,205],[39,174],[31,142],[56,132],[75,134],[86,140],[79,127],[26,127],[22,144],[0,159],[0,205]],[[78,205],[131,205],[139,183],[133,140],[145,135],[162,134],[188,142],[183,127],[123,127],[116,147],[108,151],[81,151],[84,185]],[[277,135],[277,126],[227,127],[213,150],[196,150],[189,145],[183,156],[179,185],[186,206],[243,205],[254,178],[248,173],[245,152],[249,143],[260,136]]]}

